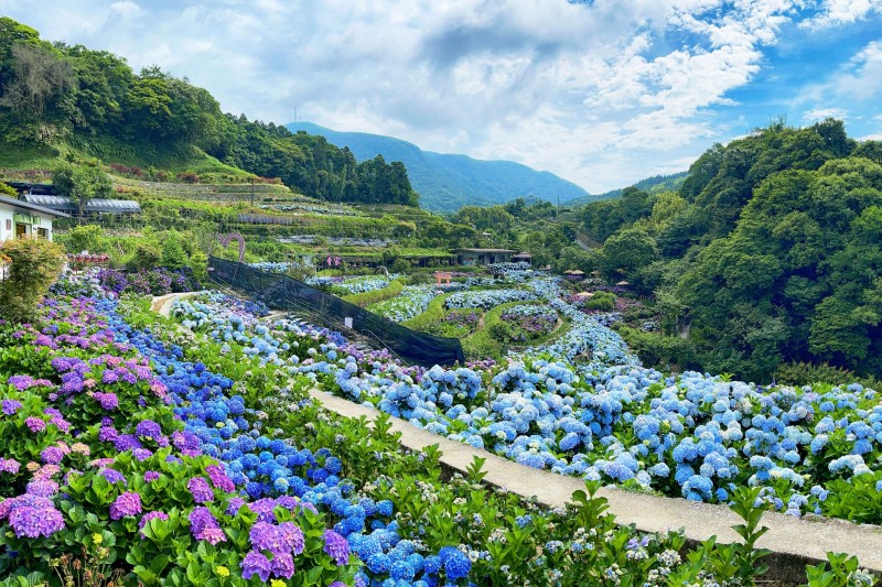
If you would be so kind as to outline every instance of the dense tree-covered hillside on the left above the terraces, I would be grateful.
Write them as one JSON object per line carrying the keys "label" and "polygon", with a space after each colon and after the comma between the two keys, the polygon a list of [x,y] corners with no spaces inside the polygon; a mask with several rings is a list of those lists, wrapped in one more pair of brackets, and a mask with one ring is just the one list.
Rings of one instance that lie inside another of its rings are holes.
{"label": "dense tree-covered hillside on the left above the terraces", "polygon": [[115,152],[155,156],[195,149],[308,196],[418,205],[400,162],[377,156],[358,163],[322,137],[225,115],[186,78],[158,67],[136,74],[125,58],[49,43],[8,18],[0,18],[0,132],[8,149],[67,143],[108,162],[131,162]]}

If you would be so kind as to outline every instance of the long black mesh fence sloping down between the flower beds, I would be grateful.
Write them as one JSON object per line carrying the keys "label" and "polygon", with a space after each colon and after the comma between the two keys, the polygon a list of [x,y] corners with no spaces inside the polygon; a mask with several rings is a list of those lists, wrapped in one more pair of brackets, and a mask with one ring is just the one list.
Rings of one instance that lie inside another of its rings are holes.
{"label": "long black mesh fence sloping down between the flower beds", "polygon": [[234,287],[271,308],[289,311],[318,326],[355,331],[406,362],[423,367],[465,362],[458,338],[411,330],[288,275],[216,257],[209,257],[208,267],[211,279],[216,283]]}

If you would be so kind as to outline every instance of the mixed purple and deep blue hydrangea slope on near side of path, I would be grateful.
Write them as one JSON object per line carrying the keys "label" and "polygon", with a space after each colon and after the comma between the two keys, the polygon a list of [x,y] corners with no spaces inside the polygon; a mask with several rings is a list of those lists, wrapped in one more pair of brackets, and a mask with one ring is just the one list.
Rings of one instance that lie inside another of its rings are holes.
{"label": "mixed purple and deep blue hydrangea slope on near side of path", "polygon": [[478,463],[442,482],[435,452],[402,453],[383,420],[341,420],[303,392],[325,361],[390,365],[383,352],[286,320],[263,327],[219,294],[179,306],[208,337],[195,344],[147,300],[66,289],[78,294],[49,300],[34,325],[0,325],[3,585],[84,574],[125,585],[570,585],[611,572],[644,584],[725,568],[724,547],[687,563],[682,536],[619,528],[590,494],[544,510],[476,485]]}

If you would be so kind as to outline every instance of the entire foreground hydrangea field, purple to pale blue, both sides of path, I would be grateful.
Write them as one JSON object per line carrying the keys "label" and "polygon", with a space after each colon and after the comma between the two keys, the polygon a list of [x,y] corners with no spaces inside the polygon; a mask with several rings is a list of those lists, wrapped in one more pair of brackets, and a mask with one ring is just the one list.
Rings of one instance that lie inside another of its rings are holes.
{"label": "entire foreground hydrangea field, purple to pale blue, both sides of path", "polygon": [[[148,301],[67,283],[36,323],[0,324],[4,585],[84,569],[126,585],[273,587],[722,585],[761,570],[749,546],[687,557],[677,533],[615,525],[591,479],[747,510],[841,515],[860,500],[849,511],[878,521],[869,390],[665,378],[578,311],[571,340],[426,370],[326,329],[265,324],[263,308],[223,294],[175,303],[194,334]],[[579,475],[588,492],[547,510],[478,485],[480,463],[449,479],[437,452],[402,452],[381,418],[372,428],[325,413],[311,387]]]}

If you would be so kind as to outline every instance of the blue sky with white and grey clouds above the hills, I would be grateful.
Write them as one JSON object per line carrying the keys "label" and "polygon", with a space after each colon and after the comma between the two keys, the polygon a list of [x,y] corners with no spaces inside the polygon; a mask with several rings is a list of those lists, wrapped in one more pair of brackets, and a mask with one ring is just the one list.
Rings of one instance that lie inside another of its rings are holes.
{"label": "blue sky with white and grey clouds above the hills", "polygon": [[882,0],[1,0],[225,111],[507,159],[591,193],[771,119],[882,139]]}

